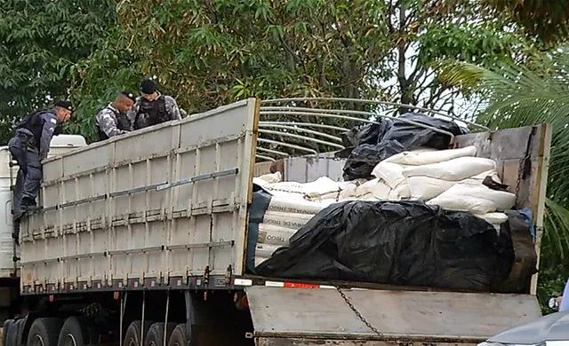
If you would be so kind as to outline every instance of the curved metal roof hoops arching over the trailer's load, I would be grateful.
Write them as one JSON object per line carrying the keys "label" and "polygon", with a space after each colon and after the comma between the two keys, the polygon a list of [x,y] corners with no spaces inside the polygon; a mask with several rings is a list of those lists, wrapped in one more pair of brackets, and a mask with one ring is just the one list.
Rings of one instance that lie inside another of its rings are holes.
{"label": "curved metal roof hoops arching over the trailer's load", "polygon": [[[307,103],[318,103],[318,105],[306,106]],[[334,104],[340,104],[340,107],[334,108]],[[346,106],[350,106],[350,104],[373,106],[376,111],[347,109]],[[275,98],[261,101],[260,115],[261,119],[265,120],[259,122],[256,157],[260,161],[276,161],[292,156],[292,154],[286,153],[287,149],[316,155],[318,153],[317,145],[325,145],[329,150],[345,149],[342,145],[341,134],[349,129],[323,123],[330,122],[332,119],[356,124],[379,124],[380,122],[372,119],[393,119],[445,134],[451,138],[451,143],[453,143],[454,136],[448,131],[397,117],[397,109],[401,108],[419,111],[433,117],[444,117],[452,121],[463,122],[479,130],[489,130],[476,122],[469,122],[452,114],[394,102],[361,98]],[[314,120],[315,122],[307,120]]]}

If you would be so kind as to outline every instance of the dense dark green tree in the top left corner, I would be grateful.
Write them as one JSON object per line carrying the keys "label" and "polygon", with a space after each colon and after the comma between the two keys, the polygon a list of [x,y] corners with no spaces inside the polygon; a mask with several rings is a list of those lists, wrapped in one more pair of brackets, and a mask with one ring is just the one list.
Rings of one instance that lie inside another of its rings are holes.
{"label": "dense dark green tree in the top left corner", "polygon": [[74,64],[114,22],[110,0],[0,0],[0,141],[14,118],[67,98]]}

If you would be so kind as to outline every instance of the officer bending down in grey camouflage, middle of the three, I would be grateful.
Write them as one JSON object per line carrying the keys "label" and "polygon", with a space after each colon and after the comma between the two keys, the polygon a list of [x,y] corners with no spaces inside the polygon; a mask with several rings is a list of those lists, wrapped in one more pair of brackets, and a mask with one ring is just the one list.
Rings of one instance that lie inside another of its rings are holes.
{"label": "officer bending down in grey camouflage, middle of the three", "polygon": [[131,91],[124,90],[116,95],[113,102],[95,115],[99,140],[122,135],[132,131],[131,120],[127,112],[132,109],[135,98]]}

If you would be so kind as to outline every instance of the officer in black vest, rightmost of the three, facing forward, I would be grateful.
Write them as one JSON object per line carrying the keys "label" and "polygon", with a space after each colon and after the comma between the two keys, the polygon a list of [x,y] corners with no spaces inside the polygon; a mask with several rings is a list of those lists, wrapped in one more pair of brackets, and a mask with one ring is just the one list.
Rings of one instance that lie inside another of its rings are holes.
{"label": "officer in black vest, rightmost of the three, facing forward", "polygon": [[171,96],[160,94],[153,80],[143,80],[140,83],[140,92],[142,96],[137,98],[129,114],[134,130],[181,119],[176,100]]}

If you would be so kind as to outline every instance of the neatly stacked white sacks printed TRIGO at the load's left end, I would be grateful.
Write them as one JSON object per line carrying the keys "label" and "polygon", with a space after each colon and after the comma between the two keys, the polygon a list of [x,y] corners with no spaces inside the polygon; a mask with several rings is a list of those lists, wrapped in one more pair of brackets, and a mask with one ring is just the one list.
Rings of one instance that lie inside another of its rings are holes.
{"label": "neatly stacked white sacks printed TRIGO at the load's left end", "polygon": [[[268,177],[272,176],[272,177]],[[338,183],[321,177],[312,183],[277,182],[280,173],[254,178],[255,184],[262,185],[273,195],[267,211],[259,224],[259,237],[255,248],[255,266],[267,260],[277,248],[286,247],[295,232],[307,224],[320,210],[336,200],[307,201],[309,196],[321,197],[327,193],[340,192]],[[272,183],[263,183],[271,179]]]}

